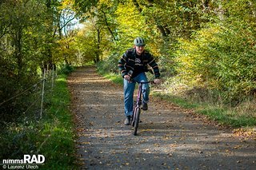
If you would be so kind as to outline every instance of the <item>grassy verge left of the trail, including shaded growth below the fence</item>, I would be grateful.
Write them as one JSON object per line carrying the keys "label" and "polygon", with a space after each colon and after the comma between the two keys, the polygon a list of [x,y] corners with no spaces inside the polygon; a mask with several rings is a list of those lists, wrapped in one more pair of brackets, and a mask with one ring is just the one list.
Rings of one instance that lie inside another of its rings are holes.
{"label": "grassy verge left of the trail, including shaded growth below the fence", "polygon": [[25,154],[43,155],[39,169],[77,169],[73,117],[66,75],[58,75],[53,93],[46,93],[42,119],[26,115],[7,123],[0,133],[0,159],[18,160]]}

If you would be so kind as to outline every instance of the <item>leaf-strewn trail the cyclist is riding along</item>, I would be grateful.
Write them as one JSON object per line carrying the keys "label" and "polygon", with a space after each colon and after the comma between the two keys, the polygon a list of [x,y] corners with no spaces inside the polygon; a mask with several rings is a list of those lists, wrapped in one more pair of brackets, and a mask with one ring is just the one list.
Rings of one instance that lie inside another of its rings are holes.
{"label": "leaf-strewn trail the cyclist is riding along", "polygon": [[81,169],[256,169],[255,140],[209,125],[164,101],[150,102],[138,136],[123,125],[122,86],[82,67],[68,80]]}

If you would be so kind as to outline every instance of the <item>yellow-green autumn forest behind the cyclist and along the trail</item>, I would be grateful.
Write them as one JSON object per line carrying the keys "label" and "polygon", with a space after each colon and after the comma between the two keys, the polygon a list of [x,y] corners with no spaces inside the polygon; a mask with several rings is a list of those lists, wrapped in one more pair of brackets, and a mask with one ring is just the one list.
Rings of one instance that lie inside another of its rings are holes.
{"label": "yellow-green autumn forest behind the cyclist and along the trail", "polygon": [[2,125],[30,105],[26,89],[44,69],[94,62],[118,74],[136,37],[156,57],[165,93],[255,120],[254,0],[2,0],[0,11]]}

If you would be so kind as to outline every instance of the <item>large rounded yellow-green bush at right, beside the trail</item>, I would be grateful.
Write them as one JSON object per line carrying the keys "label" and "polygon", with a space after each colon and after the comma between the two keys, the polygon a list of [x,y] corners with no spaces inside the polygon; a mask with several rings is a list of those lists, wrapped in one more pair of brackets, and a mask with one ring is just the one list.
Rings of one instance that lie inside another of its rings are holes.
{"label": "large rounded yellow-green bush at right, beside the trail", "polygon": [[181,39],[177,70],[188,85],[218,89],[228,101],[239,101],[256,89],[256,32],[250,23],[226,22]]}

